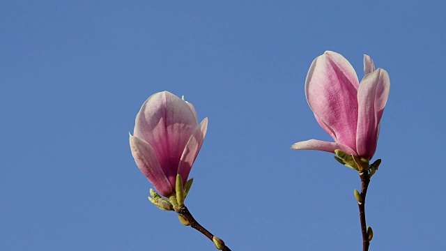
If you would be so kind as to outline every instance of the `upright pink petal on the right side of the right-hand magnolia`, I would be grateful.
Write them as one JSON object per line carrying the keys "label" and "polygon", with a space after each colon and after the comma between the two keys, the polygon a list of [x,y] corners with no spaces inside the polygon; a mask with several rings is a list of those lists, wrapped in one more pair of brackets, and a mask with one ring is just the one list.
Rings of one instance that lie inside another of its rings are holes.
{"label": "upright pink petal on the right side of the right-hand magnolia", "polygon": [[385,103],[389,97],[390,78],[381,68],[366,75],[357,91],[357,153],[372,158],[376,151],[378,132]]}

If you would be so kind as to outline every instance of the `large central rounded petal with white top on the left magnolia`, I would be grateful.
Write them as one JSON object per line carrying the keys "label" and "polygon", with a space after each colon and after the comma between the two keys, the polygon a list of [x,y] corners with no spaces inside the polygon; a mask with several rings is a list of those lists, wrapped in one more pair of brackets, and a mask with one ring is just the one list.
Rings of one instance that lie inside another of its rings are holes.
{"label": "large central rounded petal with white top on the left magnolia", "polygon": [[187,103],[172,93],[155,93],[137,114],[134,136],[153,146],[169,181],[175,182],[178,163],[198,123]]}

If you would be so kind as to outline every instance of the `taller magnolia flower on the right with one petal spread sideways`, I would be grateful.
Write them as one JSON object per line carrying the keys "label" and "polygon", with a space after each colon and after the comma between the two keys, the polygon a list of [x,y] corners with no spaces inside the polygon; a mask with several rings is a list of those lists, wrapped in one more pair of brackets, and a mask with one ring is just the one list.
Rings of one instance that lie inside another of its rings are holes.
{"label": "taller magnolia flower on the right with one petal spread sideways", "polygon": [[364,74],[359,83],[351,64],[336,52],[314,59],[305,80],[305,96],[316,121],[334,142],[310,139],[293,144],[291,149],[330,153],[339,149],[369,160],[373,157],[390,79],[385,70],[375,70],[367,55]]}

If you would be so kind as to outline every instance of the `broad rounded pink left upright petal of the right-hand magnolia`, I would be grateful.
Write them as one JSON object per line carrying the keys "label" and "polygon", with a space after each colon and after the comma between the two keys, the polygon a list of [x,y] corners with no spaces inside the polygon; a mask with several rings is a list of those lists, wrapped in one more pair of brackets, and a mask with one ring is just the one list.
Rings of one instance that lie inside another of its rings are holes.
{"label": "broad rounded pink left upright petal of the right-hand magnolia", "polygon": [[341,54],[325,52],[314,59],[305,81],[309,107],[335,142],[356,150],[357,88],[355,70]]}

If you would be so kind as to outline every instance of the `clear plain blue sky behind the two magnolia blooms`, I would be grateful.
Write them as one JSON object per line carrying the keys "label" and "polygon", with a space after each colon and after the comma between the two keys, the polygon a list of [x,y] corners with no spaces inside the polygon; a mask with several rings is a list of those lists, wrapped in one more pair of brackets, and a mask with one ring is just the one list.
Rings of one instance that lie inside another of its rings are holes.
{"label": "clear plain blue sky behind the two magnolia blooms", "polygon": [[441,1],[1,1],[0,250],[214,250],[151,184],[128,132],[152,93],[209,118],[186,204],[232,250],[360,250],[357,172],[307,105],[325,50],[390,74],[371,250],[445,248]]}

